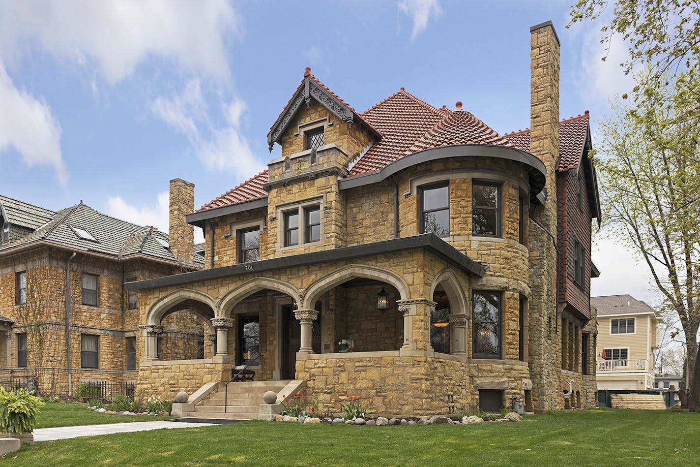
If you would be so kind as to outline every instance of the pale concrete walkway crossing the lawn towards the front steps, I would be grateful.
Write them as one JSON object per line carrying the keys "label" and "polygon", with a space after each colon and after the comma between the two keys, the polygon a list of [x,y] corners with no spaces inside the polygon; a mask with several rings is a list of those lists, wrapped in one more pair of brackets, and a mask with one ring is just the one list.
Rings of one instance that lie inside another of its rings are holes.
{"label": "pale concrete walkway crossing the lawn towards the front steps", "polygon": [[66,440],[68,438],[79,438],[80,436],[109,435],[111,433],[130,433],[132,431],[158,430],[160,428],[195,428],[197,426],[214,426],[214,424],[182,421],[132,421],[125,424],[37,428],[34,430],[34,442]]}

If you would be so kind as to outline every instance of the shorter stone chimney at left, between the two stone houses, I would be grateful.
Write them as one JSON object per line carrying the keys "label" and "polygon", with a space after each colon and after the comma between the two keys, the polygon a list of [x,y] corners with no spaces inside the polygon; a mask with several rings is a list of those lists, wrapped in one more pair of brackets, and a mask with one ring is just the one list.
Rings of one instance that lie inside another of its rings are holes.
{"label": "shorter stone chimney at left, between the two stone houses", "polygon": [[185,216],[195,212],[195,184],[170,180],[170,251],[182,262],[193,262],[195,229]]}

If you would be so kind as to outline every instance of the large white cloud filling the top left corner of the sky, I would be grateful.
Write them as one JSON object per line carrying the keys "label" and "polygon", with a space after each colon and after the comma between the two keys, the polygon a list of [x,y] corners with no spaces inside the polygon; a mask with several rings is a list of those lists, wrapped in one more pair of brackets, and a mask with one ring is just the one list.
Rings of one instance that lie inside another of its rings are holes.
{"label": "large white cloud filling the top left corner of the sky", "polygon": [[159,55],[183,70],[225,79],[224,39],[241,24],[225,0],[62,0],[0,4],[0,55],[38,45],[80,66],[97,63],[113,84]]}

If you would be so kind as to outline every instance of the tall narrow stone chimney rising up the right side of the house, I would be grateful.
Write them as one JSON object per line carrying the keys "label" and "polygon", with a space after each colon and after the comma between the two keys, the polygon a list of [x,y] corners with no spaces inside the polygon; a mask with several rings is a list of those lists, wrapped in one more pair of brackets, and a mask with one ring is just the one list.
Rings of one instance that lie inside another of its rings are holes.
{"label": "tall narrow stone chimney rising up the right side of the house", "polygon": [[[556,161],[559,158],[559,37],[551,21],[530,28],[530,152],[547,168],[544,208],[535,206],[529,223],[530,283],[529,335],[539,337],[529,347],[532,401],[537,412],[563,407],[559,391],[561,339],[556,283]],[[546,229],[546,231],[545,231]]]}

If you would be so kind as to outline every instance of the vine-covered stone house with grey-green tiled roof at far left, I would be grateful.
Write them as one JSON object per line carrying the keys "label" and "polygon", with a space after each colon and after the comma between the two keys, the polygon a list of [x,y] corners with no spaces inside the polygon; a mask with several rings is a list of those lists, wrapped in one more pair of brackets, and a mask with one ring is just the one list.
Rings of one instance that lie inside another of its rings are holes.
{"label": "vine-covered stone house with grey-green tiled roof at far left", "polygon": [[[193,193],[181,180],[171,189],[175,198]],[[85,380],[135,381],[137,295],[123,284],[204,263],[191,226],[169,245],[158,229],[82,202],[54,212],[0,196],[0,225],[0,385],[25,386],[36,375],[43,395],[73,395]],[[164,358],[202,356],[203,323],[190,315],[165,323]]]}

